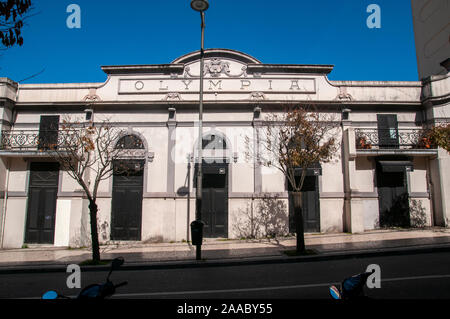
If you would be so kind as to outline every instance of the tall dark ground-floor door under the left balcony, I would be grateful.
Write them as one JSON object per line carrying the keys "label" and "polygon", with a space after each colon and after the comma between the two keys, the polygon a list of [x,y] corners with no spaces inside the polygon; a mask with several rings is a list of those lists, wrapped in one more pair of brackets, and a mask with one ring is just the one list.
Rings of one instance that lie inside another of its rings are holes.
{"label": "tall dark ground-floor door under the left balcony", "polygon": [[59,165],[31,163],[25,242],[53,244]]}

